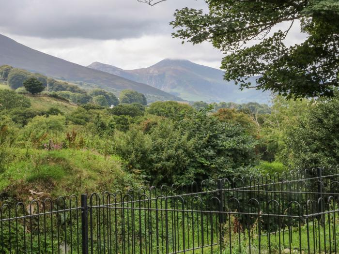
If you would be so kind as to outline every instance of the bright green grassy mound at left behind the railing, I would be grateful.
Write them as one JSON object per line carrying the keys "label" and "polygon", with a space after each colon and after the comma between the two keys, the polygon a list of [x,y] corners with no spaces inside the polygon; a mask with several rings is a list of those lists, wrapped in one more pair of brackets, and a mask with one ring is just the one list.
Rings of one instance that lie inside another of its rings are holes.
{"label": "bright green grassy mound at left behind the railing", "polygon": [[56,197],[117,190],[134,179],[121,169],[119,158],[90,150],[11,149],[8,165],[0,174],[0,193],[27,200],[30,190]]}

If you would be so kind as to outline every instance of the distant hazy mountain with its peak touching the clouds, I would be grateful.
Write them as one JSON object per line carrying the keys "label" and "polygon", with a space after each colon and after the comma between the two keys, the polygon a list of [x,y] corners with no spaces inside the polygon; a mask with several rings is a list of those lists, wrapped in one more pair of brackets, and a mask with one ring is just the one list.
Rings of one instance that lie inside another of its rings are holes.
{"label": "distant hazy mountain with its peak touching the clouds", "polygon": [[[123,70],[100,62],[93,62],[88,67],[148,84],[188,101],[267,103],[270,99],[269,92],[254,89],[241,91],[234,82],[223,80],[223,71],[188,60],[165,59],[136,70]],[[252,83],[255,79],[250,78]]]}

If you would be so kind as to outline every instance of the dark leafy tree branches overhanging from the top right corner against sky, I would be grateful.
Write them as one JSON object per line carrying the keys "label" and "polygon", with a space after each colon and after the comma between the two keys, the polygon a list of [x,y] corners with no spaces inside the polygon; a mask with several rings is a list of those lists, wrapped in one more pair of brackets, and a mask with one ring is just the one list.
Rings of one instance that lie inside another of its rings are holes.
{"label": "dark leafy tree branches overhanging from the top right corner against sky", "polygon": [[[139,0],[154,5],[161,0]],[[337,0],[206,0],[209,13],[184,8],[171,22],[173,37],[193,44],[208,41],[225,53],[225,80],[241,89],[272,90],[288,98],[333,96],[339,86]],[[298,21],[298,22],[296,22]],[[285,30],[277,30],[284,23]],[[286,46],[295,23],[307,39]],[[258,44],[247,46],[253,39]],[[256,84],[248,77],[258,76]]]}

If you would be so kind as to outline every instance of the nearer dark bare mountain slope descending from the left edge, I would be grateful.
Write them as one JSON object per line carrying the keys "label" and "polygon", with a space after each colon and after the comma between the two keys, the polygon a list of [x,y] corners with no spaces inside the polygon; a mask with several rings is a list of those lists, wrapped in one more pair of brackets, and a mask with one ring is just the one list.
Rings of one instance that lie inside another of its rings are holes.
{"label": "nearer dark bare mountain slope descending from the left edge", "polygon": [[[167,92],[121,76],[81,66],[19,44],[0,34],[0,65],[37,72],[67,81],[85,82],[87,85],[105,90],[132,89],[164,100],[180,100]],[[81,83],[80,83],[81,84]]]}

